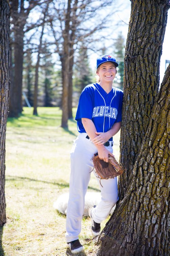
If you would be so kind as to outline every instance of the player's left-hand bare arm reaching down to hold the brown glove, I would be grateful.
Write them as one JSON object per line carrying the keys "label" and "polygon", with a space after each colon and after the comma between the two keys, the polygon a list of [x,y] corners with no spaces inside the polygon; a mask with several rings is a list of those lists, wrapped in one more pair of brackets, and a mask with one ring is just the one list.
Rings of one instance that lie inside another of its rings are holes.
{"label": "player's left-hand bare arm reaching down to hold the brown glove", "polygon": [[[91,140],[97,136],[95,124],[93,123],[93,121],[91,119],[82,118],[82,124],[84,126],[86,133],[88,134],[88,136]],[[95,144],[95,146],[97,147],[99,158],[103,159],[105,162],[108,163],[108,155],[113,155],[113,154],[111,152],[109,152],[104,147],[104,145]]]}

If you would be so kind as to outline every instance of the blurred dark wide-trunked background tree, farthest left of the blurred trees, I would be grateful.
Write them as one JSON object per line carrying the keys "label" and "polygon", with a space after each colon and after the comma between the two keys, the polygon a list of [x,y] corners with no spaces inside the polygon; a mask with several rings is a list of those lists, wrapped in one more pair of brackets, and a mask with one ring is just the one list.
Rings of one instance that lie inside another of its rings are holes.
{"label": "blurred dark wide-trunked background tree, farthest left of the blurred trees", "polygon": [[[37,24],[29,24],[27,19],[30,12],[37,5],[42,5],[49,0],[12,0],[11,4],[11,80],[10,93],[10,117],[17,117],[22,112],[22,71],[23,71],[23,46],[24,34],[31,29],[40,26]],[[27,7],[24,3],[27,3]]]}

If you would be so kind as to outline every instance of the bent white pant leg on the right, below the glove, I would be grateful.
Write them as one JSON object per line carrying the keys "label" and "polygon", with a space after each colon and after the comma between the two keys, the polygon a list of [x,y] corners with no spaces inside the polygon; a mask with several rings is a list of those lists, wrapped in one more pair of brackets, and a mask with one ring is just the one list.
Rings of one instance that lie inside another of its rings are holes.
{"label": "bent white pant leg on the right, below the glove", "polygon": [[[112,152],[112,149],[108,148],[108,150]],[[95,171],[94,174],[96,176]],[[115,177],[114,179],[101,180],[101,184],[103,187],[100,184],[99,178],[97,178],[97,181],[99,183],[101,190],[101,201],[99,202],[96,208],[92,209],[91,216],[95,222],[101,223],[103,220],[107,218],[113,206],[116,205],[119,196],[117,177]]]}

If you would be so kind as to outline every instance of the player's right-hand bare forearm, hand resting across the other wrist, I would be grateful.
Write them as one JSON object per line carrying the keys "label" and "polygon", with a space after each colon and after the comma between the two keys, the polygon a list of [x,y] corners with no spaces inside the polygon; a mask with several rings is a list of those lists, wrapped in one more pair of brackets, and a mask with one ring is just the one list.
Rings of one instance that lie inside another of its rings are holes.
{"label": "player's right-hand bare forearm, hand resting across the other wrist", "polygon": [[121,122],[117,122],[117,123],[114,123],[114,125],[111,127],[111,129],[109,131],[105,132],[105,133],[96,132],[96,134],[98,136],[95,137],[94,139],[92,139],[92,142],[95,145],[102,145],[102,144],[104,144],[111,137],[113,137],[115,134],[118,133],[118,131],[120,130],[120,127],[121,127]]}

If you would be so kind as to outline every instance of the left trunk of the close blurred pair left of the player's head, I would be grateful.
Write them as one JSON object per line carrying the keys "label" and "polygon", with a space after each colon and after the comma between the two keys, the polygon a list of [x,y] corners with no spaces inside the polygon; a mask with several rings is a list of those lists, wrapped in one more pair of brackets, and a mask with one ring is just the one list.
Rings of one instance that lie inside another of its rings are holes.
{"label": "left trunk of the close blurred pair left of the player's head", "polygon": [[63,32],[63,56],[62,77],[63,77],[63,95],[62,95],[62,124],[63,128],[68,127],[68,88],[69,88],[69,30],[70,30],[70,12],[71,0],[68,0],[67,14],[65,21],[65,30]]}

